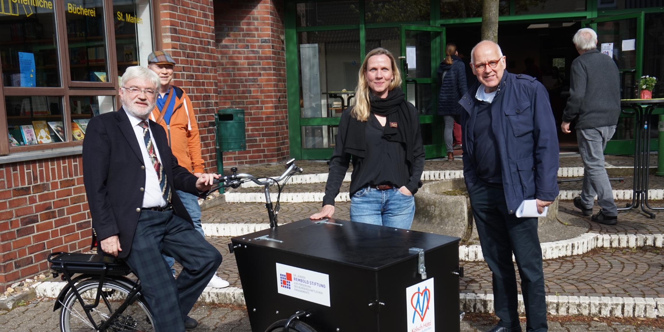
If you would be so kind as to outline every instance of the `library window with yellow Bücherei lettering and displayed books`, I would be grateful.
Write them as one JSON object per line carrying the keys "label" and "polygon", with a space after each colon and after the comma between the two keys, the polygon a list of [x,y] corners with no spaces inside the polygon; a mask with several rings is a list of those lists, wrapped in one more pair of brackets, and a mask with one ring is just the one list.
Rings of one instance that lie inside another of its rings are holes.
{"label": "library window with yellow B\u00fccherei lettering and displayed books", "polygon": [[0,155],[80,146],[93,116],[118,109],[126,68],[147,66],[152,11],[151,0],[0,0]]}

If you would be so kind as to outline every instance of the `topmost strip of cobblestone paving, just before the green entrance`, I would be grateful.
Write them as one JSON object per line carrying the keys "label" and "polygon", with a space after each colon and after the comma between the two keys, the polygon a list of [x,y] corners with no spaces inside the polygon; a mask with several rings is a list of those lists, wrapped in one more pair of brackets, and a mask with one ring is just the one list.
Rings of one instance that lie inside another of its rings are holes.
{"label": "topmost strip of cobblestone paving, just before the green entrance", "polygon": [[[622,167],[633,166],[634,157],[630,155],[606,155],[605,161],[610,166]],[[303,174],[327,173],[329,165],[326,161],[311,161],[299,160],[295,163],[298,167],[302,167]],[[263,164],[263,165],[239,165],[238,173],[249,173],[254,176],[260,177],[274,177],[284,173],[285,163],[276,164]],[[650,165],[657,166],[657,154],[650,155]],[[581,157],[573,155],[567,157],[560,156],[560,167],[582,167],[583,163]],[[457,157],[455,161],[446,161],[440,159],[427,160],[424,163],[425,171],[447,171],[452,169],[463,169],[461,156]],[[349,172],[353,170],[353,165],[349,165]],[[230,174],[230,166],[224,167],[224,174]]]}

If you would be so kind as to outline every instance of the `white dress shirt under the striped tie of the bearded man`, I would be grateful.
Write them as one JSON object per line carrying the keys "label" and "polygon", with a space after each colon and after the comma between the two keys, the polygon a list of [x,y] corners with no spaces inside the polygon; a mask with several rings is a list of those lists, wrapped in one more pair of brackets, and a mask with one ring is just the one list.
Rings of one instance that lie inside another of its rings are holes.
{"label": "white dress shirt under the striped tie of the bearded man", "polygon": [[[126,111],[125,111],[126,112]],[[152,166],[152,159],[147,153],[147,147],[145,146],[145,140],[143,139],[143,127],[138,125],[143,120],[127,112],[129,117],[129,123],[133,128],[133,133],[136,134],[136,140],[138,141],[138,146],[141,147],[141,153],[143,153],[143,165],[145,165],[145,192],[143,193],[143,205],[141,207],[165,207],[168,203],[161,196],[161,187],[159,187],[159,177],[157,177],[157,171],[155,167]],[[149,125],[147,126],[147,131],[150,133],[150,138],[152,139],[152,146],[155,148],[155,153],[157,154],[157,160],[161,163],[161,156],[159,156],[159,149],[157,149],[157,144],[155,143],[155,137],[152,135]],[[163,165],[163,163],[161,163]],[[164,172],[165,174],[166,172]],[[171,188],[173,191],[173,188]]]}

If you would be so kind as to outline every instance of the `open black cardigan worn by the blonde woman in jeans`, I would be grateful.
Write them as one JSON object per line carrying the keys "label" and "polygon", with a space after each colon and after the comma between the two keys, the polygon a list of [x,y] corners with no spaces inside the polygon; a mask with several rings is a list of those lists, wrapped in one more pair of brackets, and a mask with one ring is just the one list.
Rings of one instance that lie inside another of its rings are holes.
{"label": "open black cardigan worn by the blonde woman in jeans", "polygon": [[[420,120],[417,110],[412,104],[407,104],[408,110],[410,111],[410,130],[414,135],[414,147],[412,158],[413,163],[408,167],[410,177],[406,184],[406,188],[414,194],[420,187],[422,187],[420,177],[422,177],[422,171],[424,171],[424,147],[422,145],[422,133],[420,133]],[[334,205],[334,200],[337,195],[339,195],[339,188],[341,187],[343,178],[346,177],[346,171],[348,171],[348,166],[351,162],[351,153],[345,151],[344,144],[349,120],[351,120],[351,108],[347,108],[343,111],[343,114],[341,114],[339,131],[337,132],[337,145],[335,145],[334,152],[330,158],[329,174],[327,175],[327,184],[325,185],[323,205]],[[371,169],[363,167],[362,161],[362,158],[353,155],[353,173],[351,174],[350,188],[351,195],[357,193],[357,191],[367,185],[371,179]],[[406,163],[406,161],[404,161],[404,163]]]}

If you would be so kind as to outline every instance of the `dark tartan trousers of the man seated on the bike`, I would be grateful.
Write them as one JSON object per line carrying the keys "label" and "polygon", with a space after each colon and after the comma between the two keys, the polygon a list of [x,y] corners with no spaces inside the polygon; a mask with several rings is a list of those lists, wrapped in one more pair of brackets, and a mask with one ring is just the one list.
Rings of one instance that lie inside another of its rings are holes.
{"label": "dark tartan trousers of the man seated on the bike", "polygon": [[[161,252],[182,264],[177,280]],[[221,264],[221,254],[173,210],[143,210],[125,261],[141,280],[155,331],[183,332],[184,319]]]}

